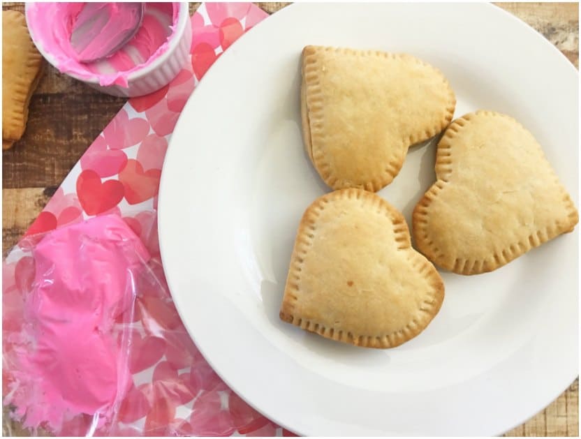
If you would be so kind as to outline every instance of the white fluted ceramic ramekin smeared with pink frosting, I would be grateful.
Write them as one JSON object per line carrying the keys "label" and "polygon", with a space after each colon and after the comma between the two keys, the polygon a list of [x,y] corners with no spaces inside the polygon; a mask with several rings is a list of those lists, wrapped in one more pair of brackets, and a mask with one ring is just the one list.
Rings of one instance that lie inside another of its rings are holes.
{"label": "white fluted ceramic ramekin smeared with pink frosting", "polygon": [[[29,8],[29,3],[26,3],[26,9]],[[42,44],[35,38],[34,26],[30,26],[27,17],[27,25],[29,33],[34,41],[34,44],[41,52],[43,57],[47,59],[52,66],[58,69],[55,57],[47,52]],[[77,80],[88,84],[90,87],[103,91],[103,93],[111,94],[113,96],[143,96],[152,93],[156,90],[165,87],[173,78],[176,77],[179,70],[188,63],[189,52],[191,46],[191,20],[189,15],[189,3],[187,1],[179,3],[179,11],[177,14],[177,24],[175,26],[174,35],[168,42],[168,49],[159,57],[156,57],[148,66],[144,66],[129,73],[127,77],[127,87],[121,87],[117,84],[101,85],[99,84],[98,76],[94,77],[80,77],[75,73],[65,72],[66,75],[74,77]]]}

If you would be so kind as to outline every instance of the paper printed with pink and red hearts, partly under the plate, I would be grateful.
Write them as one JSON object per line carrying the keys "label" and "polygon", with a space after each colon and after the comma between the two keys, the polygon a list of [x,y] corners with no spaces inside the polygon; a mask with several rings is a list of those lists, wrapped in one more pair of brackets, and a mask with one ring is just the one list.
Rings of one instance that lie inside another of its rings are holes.
{"label": "paper printed with pink and red hearts, partly under the plate", "polygon": [[[127,101],[27,232],[42,234],[112,213],[122,216],[152,255],[149,277],[135,279],[134,308],[116,320],[116,325],[126,325],[131,339],[131,387],[119,401],[115,422],[99,426],[95,436],[294,436],[234,394],[198,351],[172,302],[157,234],[161,167],[179,114],[221,52],[265,17],[252,3],[203,3],[191,17],[189,64],[166,87]],[[6,354],[21,348],[14,335],[22,326],[22,300],[31,289],[34,260],[24,256],[5,264],[3,278],[6,395],[15,385]],[[66,417],[54,433],[84,436],[91,422],[91,415]]]}

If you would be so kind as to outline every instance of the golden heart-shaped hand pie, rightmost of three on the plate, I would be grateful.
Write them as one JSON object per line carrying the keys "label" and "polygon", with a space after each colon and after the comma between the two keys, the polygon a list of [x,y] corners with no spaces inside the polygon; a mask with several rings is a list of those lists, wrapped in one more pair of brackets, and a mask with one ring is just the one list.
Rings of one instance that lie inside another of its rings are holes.
{"label": "golden heart-shaped hand pie, rightmost of three on the plate", "polygon": [[438,144],[436,177],[413,211],[413,235],[455,273],[497,269],[579,221],[538,142],[504,114],[455,120]]}

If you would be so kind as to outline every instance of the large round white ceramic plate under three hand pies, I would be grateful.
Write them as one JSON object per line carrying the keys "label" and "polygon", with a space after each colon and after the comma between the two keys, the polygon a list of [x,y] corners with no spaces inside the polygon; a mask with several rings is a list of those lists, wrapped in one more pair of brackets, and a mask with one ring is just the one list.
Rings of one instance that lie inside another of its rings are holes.
{"label": "large round white ceramic plate under three hand pies", "polygon": [[[495,6],[297,4],[212,66],[184,108],[163,167],[163,265],[196,345],[235,392],[302,435],[502,433],[578,374],[578,230],[490,274],[442,273],[429,327],[391,350],[328,341],[279,320],[304,209],[328,191],[300,136],[307,44],[409,52],[440,68],[458,117],[512,115],[543,145],[578,205],[578,73]],[[434,181],[414,147],[380,195],[408,223]]]}

